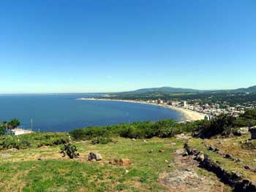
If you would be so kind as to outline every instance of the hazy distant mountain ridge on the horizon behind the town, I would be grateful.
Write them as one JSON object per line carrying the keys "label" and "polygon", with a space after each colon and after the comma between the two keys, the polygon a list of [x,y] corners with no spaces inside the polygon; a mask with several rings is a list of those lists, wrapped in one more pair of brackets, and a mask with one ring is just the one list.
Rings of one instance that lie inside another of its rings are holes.
{"label": "hazy distant mountain ridge on the horizon behind the town", "polygon": [[256,85],[249,88],[238,88],[233,90],[197,90],[192,88],[173,88],[173,87],[160,87],[160,88],[141,88],[135,91],[127,91],[122,93],[141,94],[151,92],[169,92],[169,93],[208,93],[208,92],[229,92],[229,93],[256,93]]}

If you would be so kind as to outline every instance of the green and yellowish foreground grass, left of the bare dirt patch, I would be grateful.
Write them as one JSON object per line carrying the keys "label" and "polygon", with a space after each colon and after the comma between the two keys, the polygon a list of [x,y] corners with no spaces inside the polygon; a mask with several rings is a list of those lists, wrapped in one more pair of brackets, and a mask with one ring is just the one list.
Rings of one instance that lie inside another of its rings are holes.
{"label": "green and yellowish foreground grass, left of the bare dirt patch", "polygon": [[[107,145],[90,141],[74,142],[85,158],[70,160],[59,154],[60,146],[31,147],[10,153],[0,163],[0,191],[165,191],[158,183],[159,174],[173,161],[172,153],[183,147],[176,139],[115,138]],[[170,145],[176,142],[176,145]],[[153,153],[148,153],[149,150]],[[159,153],[159,150],[164,152]],[[100,153],[102,161],[89,162],[90,151]],[[1,155],[1,154],[0,154]],[[42,156],[45,161],[38,161]],[[129,158],[132,166],[108,164],[113,158]],[[168,162],[167,162],[167,161]],[[127,171],[128,173],[127,173]]]}

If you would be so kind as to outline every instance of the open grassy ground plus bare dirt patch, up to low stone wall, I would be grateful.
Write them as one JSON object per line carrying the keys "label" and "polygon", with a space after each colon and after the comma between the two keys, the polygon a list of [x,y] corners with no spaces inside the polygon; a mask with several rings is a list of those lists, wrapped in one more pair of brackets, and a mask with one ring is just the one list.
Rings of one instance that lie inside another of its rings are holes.
{"label": "open grassy ground plus bare dirt patch, up to low stone wall", "polygon": [[[1,151],[1,191],[231,191],[211,172],[182,157],[187,139],[124,139],[92,145],[74,142],[80,158],[69,159],[60,147]],[[102,161],[88,161],[94,151]],[[131,166],[109,164],[114,158]],[[200,183],[200,185],[198,185]]]}

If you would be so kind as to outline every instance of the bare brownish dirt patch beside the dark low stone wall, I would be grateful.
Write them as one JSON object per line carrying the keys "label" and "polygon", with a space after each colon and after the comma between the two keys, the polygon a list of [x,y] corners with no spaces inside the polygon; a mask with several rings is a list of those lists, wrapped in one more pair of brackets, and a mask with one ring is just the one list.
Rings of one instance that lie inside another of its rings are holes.
{"label": "bare brownish dirt patch beside the dark low stone wall", "polygon": [[214,174],[198,167],[198,162],[193,160],[192,156],[182,156],[180,153],[173,153],[173,155],[174,161],[169,166],[174,170],[159,176],[159,183],[165,185],[168,191],[231,191]]}

